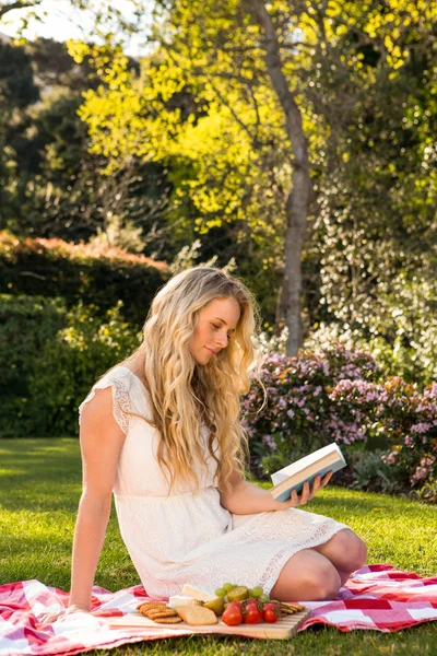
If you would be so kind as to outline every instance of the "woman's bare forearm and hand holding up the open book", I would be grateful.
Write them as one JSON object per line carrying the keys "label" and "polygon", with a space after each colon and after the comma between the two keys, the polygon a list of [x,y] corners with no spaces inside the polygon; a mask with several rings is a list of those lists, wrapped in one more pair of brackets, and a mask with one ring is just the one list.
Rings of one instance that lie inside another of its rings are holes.
{"label": "woman's bare forearm and hand holding up the open book", "polygon": [[320,488],[324,488],[331,477],[331,471],[327,473],[323,480],[318,476],[312,483],[312,488],[309,487],[308,482],[304,484],[300,496],[294,490],[287,501],[275,501],[269,490],[262,490],[255,483],[245,481],[237,471],[234,471],[231,477],[231,490],[221,491],[220,493],[221,504],[235,515],[285,511],[307,503]]}

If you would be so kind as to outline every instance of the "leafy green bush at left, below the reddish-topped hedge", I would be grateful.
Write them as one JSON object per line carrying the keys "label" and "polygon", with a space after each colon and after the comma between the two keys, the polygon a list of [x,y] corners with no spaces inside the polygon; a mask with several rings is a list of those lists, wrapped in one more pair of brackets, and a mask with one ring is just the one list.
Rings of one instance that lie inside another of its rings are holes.
{"label": "leafy green bush at left, below the reddish-topped hedge", "polygon": [[120,312],[0,296],[0,436],[76,434],[78,406],[95,379],[139,344]]}

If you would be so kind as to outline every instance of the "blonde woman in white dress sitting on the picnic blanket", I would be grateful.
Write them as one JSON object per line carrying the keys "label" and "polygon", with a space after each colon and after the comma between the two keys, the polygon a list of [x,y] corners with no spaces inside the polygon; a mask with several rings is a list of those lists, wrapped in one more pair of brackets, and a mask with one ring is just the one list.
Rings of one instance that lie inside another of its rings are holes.
{"label": "blonde woman in white dress sitting on the picnic blanket", "polygon": [[156,294],[140,348],[81,405],[70,605],[44,621],[90,610],[113,492],[151,597],[229,581],[275,599],[327,599],[365,563],[347,526],[296,508],[330,475],[286,502],[244,478],[239,398],[257,362],[256,329],[250,292],[223,270],[189,269]]}

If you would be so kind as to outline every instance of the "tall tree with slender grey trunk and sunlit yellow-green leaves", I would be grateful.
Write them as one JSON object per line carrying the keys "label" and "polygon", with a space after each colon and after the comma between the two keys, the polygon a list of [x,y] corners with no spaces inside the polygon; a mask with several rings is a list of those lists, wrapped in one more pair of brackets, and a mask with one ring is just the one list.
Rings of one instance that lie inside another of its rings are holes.
{"label": "tall tree with slender grey trunk and sunlit yellow-green leaves", "polygon": [[[288,354],[302,344],[304,238],[311,218],[311,198],[321,200],[312,195],[312,180],[320,173],[329,176],[343,145],[340,137],[347,131],[369,90],[391,73],[399,74],[417,38],[432,34],[426,2],[422,3],[422,14],[410,11],[409,2],[392,4],[388,11],[374,1],[359,5],[309,0],[293,5],[283,2],[267,5],[262,0],[209,0],[206,5],[196,0],[162,2],[156,27],[156,39],[162,45],[154,61],[150,59],[151,87],[134,90],[127,85],[126,78],[120,78],[123,112],[129,105],[130,122],[133,117],[140,121],[134,139],[141,141],[147,157],[168,157],[177,150],[175,142],[180,147],[182,140],[187,154],[190,133],[193,152],[193,134],[201,134],[202,127],[205,132],[208,120],[223,128],[226,118],[234,120],[234,138],[239,148],[245,143],[245,162],[250,162],[246,171],[241,165],[235,176],[234,156],[234,184],[240,191],[238,207],[244,211],[243,199],[249,197],[253,201],[255,185],[247,183],[256,176],[267,177],[262,164],[276,169],[272,176],[275,183],[282,178],[276,187],[283,198],[280,216],[284,225],[282,231],[273,225],[273,233],[285,243],[279,318],[284,316],[288,327]],[[330,69],[320,82],[319,70],[324,70],[328,63]],[[204,116],[194,112],[191,119],[178,122],[180,117],[169,112],[172,96],[182,87],[193,93],[198,107],[203,105]],[[110,108],[105,110],[103,105],[107,106],[108,101]],[[103,93],[94,98],[88,96],[94,105],[88,105],[83,116],[93,125],[97,150],[108,149],[109,143],[113,149],[116,144],[126,148],[132,142],[132,131],[127,134],[126,127],[120,139],[120,117],[115,108],[119,101],[115,91],[105,96]],[[147,120],[143,120],[145,114]],[[116,115],[117,128],[113,130],[109,122]],[[328,148],[320,162],[317,149],[323,134]],[[223,136],[221,132],[220,138]],[[205,133],[202,137],[201,148],[208,150],[202,161],[211,163],[211,140]],[[277,149],[280,141],[283,145]],[[213,147],[212,151],[217,149]],[[213,190],[220,185],[211,185],[206,176],[202,191],[199,156],[196,165],[197,181],[190,179],[190,185],[213,209]],[[225,171],[228,183],[229,167]],[[236,189],[234,198],[235,194],[238,195]],[[317,214],[320,207],[316,203],[312,211]],[[208,229],[208,222],[202,227]]]}

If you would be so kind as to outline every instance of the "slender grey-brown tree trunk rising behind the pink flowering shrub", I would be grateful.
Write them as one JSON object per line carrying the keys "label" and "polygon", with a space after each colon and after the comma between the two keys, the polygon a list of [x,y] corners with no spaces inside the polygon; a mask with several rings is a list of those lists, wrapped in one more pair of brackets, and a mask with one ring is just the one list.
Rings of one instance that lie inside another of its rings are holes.
{"label": "slender grey-brown tree trunk rising behind the pink flowering shrub", "polygon": [[302,115],[294,93],[288,87],[280,57],[280,44],[263,0],[249,0],[249,7],[264,39],[267,71],[285,115],[285,127],[293,150],[292,191],[286,207],[285,267],[279,303],[279,318],[288,328],[287,355],[295,355],[303,343],[302,331],[302,254],[307,231],[308,209],[312,195],[309,175],[308,147],[302,126]]}

